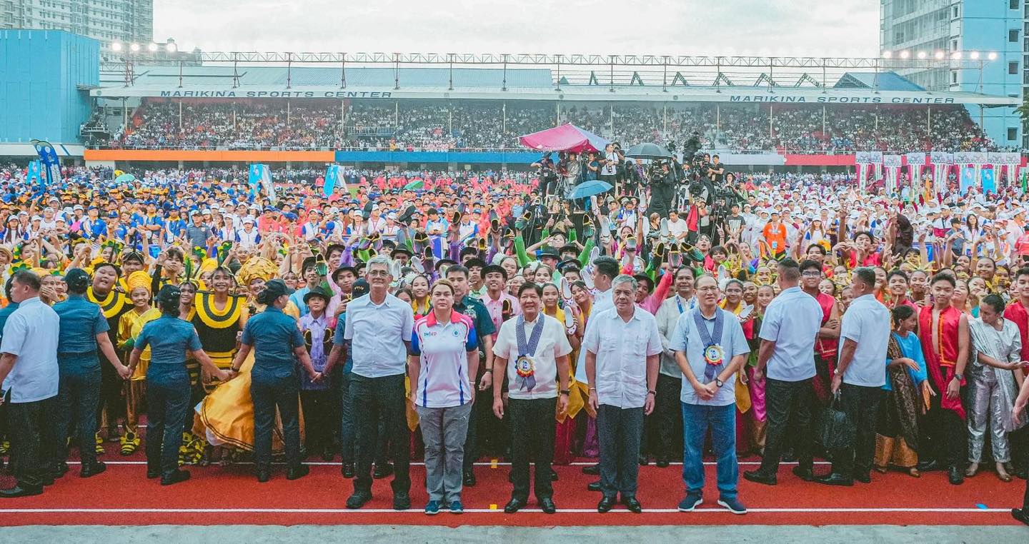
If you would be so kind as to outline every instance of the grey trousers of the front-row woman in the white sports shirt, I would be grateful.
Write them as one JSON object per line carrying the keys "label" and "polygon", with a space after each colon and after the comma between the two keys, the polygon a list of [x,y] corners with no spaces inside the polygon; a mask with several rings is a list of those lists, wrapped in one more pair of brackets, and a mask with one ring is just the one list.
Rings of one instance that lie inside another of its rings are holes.
{"label": "grey trousers of the front-row woman in the white sports shirt", "polygon": [[415,409],[425,442],[425,486],[429,500],[445,504],[460,501],[464,439],[468,433],[471,403],[452,408],[415,406]]}

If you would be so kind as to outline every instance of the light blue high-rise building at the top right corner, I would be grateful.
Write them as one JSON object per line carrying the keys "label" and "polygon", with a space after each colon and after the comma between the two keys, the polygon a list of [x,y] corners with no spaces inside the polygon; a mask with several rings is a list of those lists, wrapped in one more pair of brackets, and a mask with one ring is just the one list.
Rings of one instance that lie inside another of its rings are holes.
{"label": "light blue high-rise building at the top right corner", "polygon": [[[880,0],[884,58],[925,59],[896,70],[927,90],[1022,98],[1029,92],[1029,0]],[[888,64],[887,64],[888,66]],[[998,146],[1029,147],[1014,108],[968,107]]]}

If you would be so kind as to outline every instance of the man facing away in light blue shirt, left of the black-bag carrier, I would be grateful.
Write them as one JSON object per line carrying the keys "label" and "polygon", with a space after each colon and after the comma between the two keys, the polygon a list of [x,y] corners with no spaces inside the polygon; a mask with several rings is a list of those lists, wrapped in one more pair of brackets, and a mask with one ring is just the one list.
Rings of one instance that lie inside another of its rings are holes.
{"label": "man facing away in light blue shirt, left of the black-bag carrier", "polygon": [[[743,477],[766,485],[776,484],[779,459],[787,440],[800,462],[793,474],[814,480],[811,430],[811,404],[815,376],[815,337],[822,324],[822,307],[801,287],[801,267],[793,259],[779,262],[778,283],[782,292],[765,310],[761,347],[757,353],[754,379],[768,380],[765,389],[768,410],[765,458],[757,470],[743,473]],[[767,372],[766,372],[767,369]],[[786,436],[790,421],[796,424],[797,436]]]}

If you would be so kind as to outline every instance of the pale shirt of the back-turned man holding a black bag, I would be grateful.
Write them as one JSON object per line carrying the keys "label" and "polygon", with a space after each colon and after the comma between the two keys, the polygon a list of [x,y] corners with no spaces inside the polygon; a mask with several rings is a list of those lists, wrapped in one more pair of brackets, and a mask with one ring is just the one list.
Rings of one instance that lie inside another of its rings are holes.
{"label": "pale shirt of the back-turned man holding a black bag", "polygon": [[[871,294],[855,298],[843,315],[841,341],[857,342],[854,358],[843,373],[843,383],[881,388],[886,384],[886,346],[890,341],[890,311]],[[841,352],[843,347],[841,344]]]}

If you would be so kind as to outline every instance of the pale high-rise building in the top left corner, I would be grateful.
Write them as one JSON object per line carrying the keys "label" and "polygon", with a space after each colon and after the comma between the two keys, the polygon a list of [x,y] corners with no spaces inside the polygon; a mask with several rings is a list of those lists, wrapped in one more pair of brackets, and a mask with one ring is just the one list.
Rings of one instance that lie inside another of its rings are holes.
{"label": "pale high-rise building in the top left corner", "polygon": [[63,30],[101,43],[153,39],[153,0],[0,0],[0,29]]}

